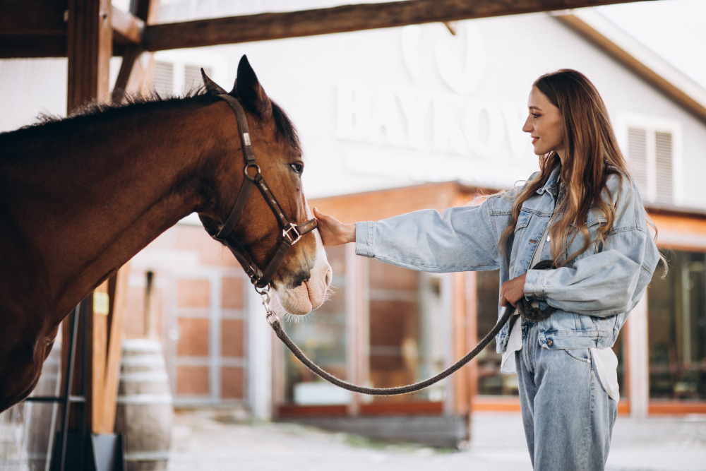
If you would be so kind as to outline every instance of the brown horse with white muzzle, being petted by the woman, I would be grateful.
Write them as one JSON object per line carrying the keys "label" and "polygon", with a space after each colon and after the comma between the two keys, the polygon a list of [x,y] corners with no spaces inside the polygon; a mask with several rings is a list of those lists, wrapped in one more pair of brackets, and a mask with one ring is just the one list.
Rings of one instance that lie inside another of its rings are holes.
{"label": "brown horse with white muzzle, being petted by the woman", "polygon": [[[201,93],[92,106],[0,134],[0,411],[34,388],[61,320],[103,280],[182,217],[210,234],[244,180],[236,117],[204,75]],[[246,110],[262,175],[287,218],[311,219],[297,133],[244,56],[229,93]],[[229,241],[265,266],[282,241],[251,192]],[[307,314],[331,278],[321,236],[304,235],[271,285],[284,309]],[[263,320],[264,321],[264,320]]]}

